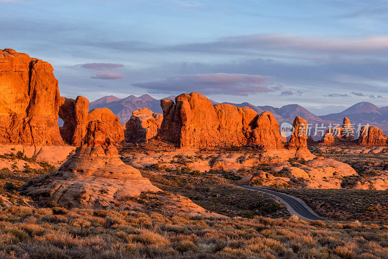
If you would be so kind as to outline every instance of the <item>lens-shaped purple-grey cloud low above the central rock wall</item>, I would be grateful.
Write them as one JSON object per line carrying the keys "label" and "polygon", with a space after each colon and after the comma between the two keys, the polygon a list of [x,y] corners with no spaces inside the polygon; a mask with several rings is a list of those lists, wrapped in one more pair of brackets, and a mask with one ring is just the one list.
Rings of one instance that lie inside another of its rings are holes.
{"label": "lens-shaped purple-grey cloud low above the central rock wall", "polygon": [[132,83],[134,87],[147,89],[150,93],[200,92],[248,96],[256,93],[275,92],[283,88],[269,80],[272,77],[246,74],[195,74],[163,78],[158,81]]}

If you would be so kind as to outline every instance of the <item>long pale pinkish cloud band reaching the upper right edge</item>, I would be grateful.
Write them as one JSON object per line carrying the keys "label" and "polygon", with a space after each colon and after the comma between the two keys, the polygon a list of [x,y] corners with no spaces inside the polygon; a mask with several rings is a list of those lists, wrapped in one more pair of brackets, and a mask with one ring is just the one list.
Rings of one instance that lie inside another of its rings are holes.
{"label": "long pale pinkish cloud band reaching the upper right edge", "polygon": [[229,36],[212,42],[178,45],[174,48],[185,51],[216,51],[229,54],[249,54],[252,50],[303,52],[312,54],[373,55],[388,53],[388,35],[371,35],[362,38],[315,38],[300,35],[253,34]]}

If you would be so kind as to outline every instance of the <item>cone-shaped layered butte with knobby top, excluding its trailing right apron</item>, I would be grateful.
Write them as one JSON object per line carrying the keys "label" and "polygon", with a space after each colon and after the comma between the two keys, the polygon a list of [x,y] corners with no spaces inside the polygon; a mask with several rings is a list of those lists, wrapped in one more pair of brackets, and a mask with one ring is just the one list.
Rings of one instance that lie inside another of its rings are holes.
{"label": "cone-shaped layered butte with knobby top, excluding its trailing right apron", "polygon": [[101,121],[89,122],[85,144],[57,171],[24,184],[23,193],[69,208],[107,209],[141,192],[161,191],[119,159],[105,127]]}

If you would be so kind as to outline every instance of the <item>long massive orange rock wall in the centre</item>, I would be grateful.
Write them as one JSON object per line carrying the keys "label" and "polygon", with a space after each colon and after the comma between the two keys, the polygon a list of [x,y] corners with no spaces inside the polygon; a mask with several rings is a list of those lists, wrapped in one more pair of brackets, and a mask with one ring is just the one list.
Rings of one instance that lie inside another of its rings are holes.
{"label": "long massive orange rock wall in the centre", "polygon": [[283,148],[279,124],[272,113],[258,114],[248,107],[212,105],[198,93],[162,99],[163,121],[159,136],[180,148],[261,145]]}

